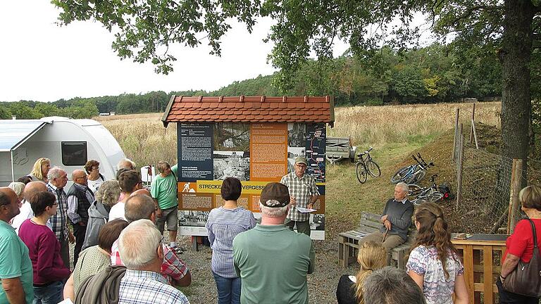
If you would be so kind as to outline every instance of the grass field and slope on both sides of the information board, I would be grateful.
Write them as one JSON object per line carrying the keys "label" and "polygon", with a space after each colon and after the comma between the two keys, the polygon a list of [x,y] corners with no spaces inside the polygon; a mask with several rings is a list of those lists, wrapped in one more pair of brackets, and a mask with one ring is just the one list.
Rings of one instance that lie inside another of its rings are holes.
{"label": "grass field and slope on both sides of the information board", "polygon": [[[335,127],[328,127],[328,137],[351,137],[358,151],[368,146],[375,149],[373,158],[381,167],[382,176],[368,178],[359,184],[352,163],[342,161],[327,167],[326,220],[327,238],[355,227],[361,211],[380,213],[393,194],[390,177],[411,163],[413,151],[422,151],[423,158],[434,160],[439,182],[454,183],[454,169],[449,162],[452,137],[442,134],[454,126],[455,109],[460,108],[460,121],[471,120],[472,103],[441,103],[403,106],[356,106],[335,109]],[[475,120],[499,127],[498,102],[476,103]],[[176,125],[164,128],[163,113],[116,115],[96,118],[113,134],[124,153],[137,165],[155,164],[159,160],[176,163]]]}

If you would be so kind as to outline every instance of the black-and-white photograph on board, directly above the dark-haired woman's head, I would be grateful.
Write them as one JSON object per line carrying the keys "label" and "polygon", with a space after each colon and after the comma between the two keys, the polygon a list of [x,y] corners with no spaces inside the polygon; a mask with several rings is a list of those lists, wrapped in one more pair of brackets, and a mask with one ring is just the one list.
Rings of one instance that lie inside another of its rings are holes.
{"label": "black-and-white photograph on board, directly above the dark-haired woman's head", "polygon": [[248,151],[214,151],[214,180],[237,177],[250,180],[250,153]]}

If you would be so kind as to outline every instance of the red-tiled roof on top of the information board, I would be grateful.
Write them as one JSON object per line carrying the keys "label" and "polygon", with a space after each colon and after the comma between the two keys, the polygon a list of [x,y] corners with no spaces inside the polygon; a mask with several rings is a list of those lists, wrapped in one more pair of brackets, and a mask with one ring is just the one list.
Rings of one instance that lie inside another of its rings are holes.
{"label": "red-tiled roof on top of the information board", "polygon": [[328,122],[332,96],[171,96],[161,119],[169,122]]}

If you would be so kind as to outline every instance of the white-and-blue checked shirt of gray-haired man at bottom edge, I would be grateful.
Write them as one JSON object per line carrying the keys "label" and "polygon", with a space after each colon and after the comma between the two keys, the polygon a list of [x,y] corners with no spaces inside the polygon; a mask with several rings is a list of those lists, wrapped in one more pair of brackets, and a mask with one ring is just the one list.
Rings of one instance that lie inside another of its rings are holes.
{"label": "white-and-blue checked shirt of gray-haired man at bottom edge", "polygon": [[120,279],[118,304],[189,304],[178,289],[167,284],[167,280],[156,272],[126,270]]}

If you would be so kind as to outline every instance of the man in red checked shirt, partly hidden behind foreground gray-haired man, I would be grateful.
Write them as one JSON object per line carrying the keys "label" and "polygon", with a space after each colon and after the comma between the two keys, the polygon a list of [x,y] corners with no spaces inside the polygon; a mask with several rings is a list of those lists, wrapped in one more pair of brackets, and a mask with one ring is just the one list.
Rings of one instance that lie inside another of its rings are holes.
{"label": "man in red checked shirt, partly hidden behind foreground gray-haired man", "polygon": [[[142,191],[141,191],[142,192]],[[128,222],[136,220],[151,220],[156,223],[156,208],[154,201],[147,194],[139,194],[134,192],[126,204],[125,217]],[[163,244],[162,244],[163,245]],[[118,240],[111,247],[111,265],[123,265],[122,258],[118,251]],[[169,246],[163,245],[163,263],[161,265],[161,275],[165,277],[170,285],[173,286],[189,286],[192,284],[192,274],[189,273],[185,262],[178,258],[178,255],[171,250]]]}

